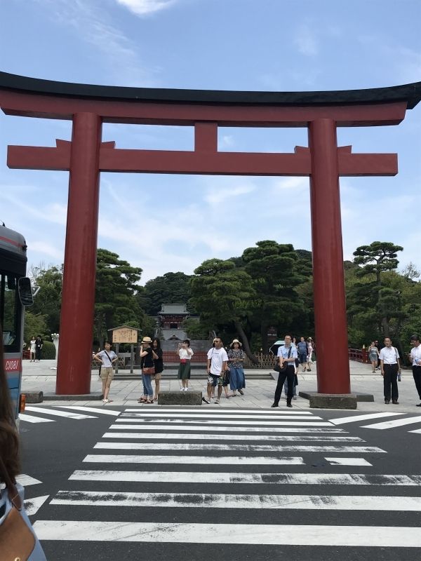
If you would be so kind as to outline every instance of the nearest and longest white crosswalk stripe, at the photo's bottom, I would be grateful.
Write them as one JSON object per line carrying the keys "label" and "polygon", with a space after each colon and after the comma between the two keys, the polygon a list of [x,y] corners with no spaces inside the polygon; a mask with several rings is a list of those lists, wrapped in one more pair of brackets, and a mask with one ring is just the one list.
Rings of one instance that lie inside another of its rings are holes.
{"label": "nearest and longest white crosswalk stripe, at the photo's bottom", "polygon": [[41,540],[139,541],[150,543],[241,543],[276,546],[421,547],[414,527],[335,525],[185,524],[100,522],[98,520],[36,520]]}

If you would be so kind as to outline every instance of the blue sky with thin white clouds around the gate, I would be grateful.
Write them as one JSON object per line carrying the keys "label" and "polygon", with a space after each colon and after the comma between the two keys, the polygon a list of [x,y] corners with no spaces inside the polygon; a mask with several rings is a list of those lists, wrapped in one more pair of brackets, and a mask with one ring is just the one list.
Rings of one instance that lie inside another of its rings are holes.
{"label": "blue sky with thin white clouds around the gate", "polygon": [[[0,0],[5,72],[157,88],[340,90],[421,80],[420,0]],[[421,269],[421,104],[399,126],[340,128],[353,151],[397,152],[396,177],[341,179],[344,255],[403,245]],[[29,263],[64,257],[67,173],[8,170],[7,144],[69,140],[68,121],[0,114],[0,219],[27,238]],[[182,127],[105,125],[118,147],[192,149]],[[293,151],[305,129],[222,128],[220,150]],[[288,219],[285,217],[288,216]],[[192,273],[204,259],[275,239],[311,249],[299,177],[104,173],[98,247],[143,269]]]}

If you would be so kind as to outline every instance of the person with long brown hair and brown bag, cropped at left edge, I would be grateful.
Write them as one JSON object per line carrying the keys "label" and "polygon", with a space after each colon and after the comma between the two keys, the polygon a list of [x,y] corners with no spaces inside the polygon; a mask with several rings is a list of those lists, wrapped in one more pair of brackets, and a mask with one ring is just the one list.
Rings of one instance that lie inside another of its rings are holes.
{"label": "person with long brown hair and brown bag, cropped at left edge", "polygon": [[0,341],[0,559],[46,561],[41,544],[23,508],[24,489],[16,483],[20,471],[19,435],[3,362]]}

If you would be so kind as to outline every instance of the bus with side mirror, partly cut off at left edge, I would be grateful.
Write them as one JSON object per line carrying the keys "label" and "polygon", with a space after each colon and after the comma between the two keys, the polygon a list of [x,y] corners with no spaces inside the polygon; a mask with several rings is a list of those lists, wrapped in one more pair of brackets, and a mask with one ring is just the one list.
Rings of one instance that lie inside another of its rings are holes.
{"label": "bus with side mirror, partly cut off at left edge", "polygon": [[0,325],[3,329],[4,370],[16,419],[21,407],[23,317],[25,306],[34,303],[26,269],[25,238],[0,223]]}

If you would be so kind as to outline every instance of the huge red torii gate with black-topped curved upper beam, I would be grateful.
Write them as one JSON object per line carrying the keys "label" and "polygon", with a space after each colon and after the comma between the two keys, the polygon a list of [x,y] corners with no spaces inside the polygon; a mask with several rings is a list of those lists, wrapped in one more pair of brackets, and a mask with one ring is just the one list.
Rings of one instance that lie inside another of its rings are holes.
{"label": "huge red torii gate with black-topped curved upper beam", "polygon": [[[421,82],[330,92],[233,92],[90,86],[0,72],[7,115],[72,120],[72,140],[8,147],[9,168],[69,171],[69,202],[56,393],[91,391],[100,172],[292,175],[310,178],[319,393],[349,394],[340,176],[396,175],[396,154],[352,154],[337,127],[398,125],[421,99]],[[193,151],[118,149],[102,123],[194,127]],[[291,154],[218,151],[218,126],[306,127]],[[335,334],[335,372],[331,337]],[[78,353],[74,353],[74,349]]]}

